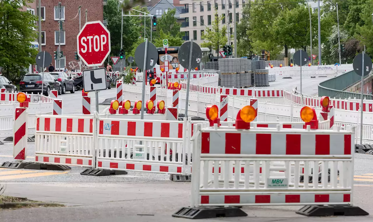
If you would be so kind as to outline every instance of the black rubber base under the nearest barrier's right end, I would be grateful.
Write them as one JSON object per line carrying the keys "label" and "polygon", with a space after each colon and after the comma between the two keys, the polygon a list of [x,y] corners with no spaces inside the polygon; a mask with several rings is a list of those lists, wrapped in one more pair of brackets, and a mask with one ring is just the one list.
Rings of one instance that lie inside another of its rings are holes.
{"label": "black rubber base under the nearest barrier's right end", "polygon": [[304,216],[365,216],[368,212],[357,206],[304,206],[297,212]]}

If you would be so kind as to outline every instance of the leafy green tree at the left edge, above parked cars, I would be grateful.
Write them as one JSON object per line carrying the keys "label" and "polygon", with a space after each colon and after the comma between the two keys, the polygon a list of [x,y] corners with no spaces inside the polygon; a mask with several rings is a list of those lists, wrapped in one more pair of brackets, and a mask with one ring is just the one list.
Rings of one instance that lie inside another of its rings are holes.
{"label": "leafy green tree at the left edge, above parked cars", "polygon": [[13,79],[19,70],[35,63],[37,49],[31,48],[31,42],[37,38],[36,16],[21,12],[21,5],[32,1],[0,1],[0,67],[6,70],[6,77]]}

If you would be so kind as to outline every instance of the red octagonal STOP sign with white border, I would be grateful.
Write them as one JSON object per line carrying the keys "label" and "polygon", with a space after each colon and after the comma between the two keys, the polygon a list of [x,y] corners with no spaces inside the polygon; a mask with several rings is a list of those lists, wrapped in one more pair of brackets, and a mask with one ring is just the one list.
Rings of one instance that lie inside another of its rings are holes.
{"label": "red octagonal STOP sign with white border", "polygon": [[88,67],[102,65],[110,54],[110,32],[100,21],[85,23],[76,40],[78,55]]}

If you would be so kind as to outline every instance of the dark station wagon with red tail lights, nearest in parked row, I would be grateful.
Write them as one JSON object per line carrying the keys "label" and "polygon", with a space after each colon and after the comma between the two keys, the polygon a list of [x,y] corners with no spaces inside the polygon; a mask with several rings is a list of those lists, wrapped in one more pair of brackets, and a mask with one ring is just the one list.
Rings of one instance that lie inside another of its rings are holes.
{"label": "dark station wagon with red tail lights, nearest in parked row", "polygon": [[[44,80],[42,81],[42,75]],[[41,86],[43,84],[43,87]],[[27,93],[41,93],[48,96],[50,90],[57,90],[58,94],[62,94],[61,83],[49,73],[38,73],[38,74],[26,74],[22,77],[19,82],[19,91]]]}

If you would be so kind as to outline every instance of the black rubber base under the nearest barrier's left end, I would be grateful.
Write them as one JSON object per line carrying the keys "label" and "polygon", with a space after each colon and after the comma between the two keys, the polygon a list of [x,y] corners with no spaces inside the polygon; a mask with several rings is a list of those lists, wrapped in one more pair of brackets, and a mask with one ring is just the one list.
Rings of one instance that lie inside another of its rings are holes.
{"label": "black rubber base under the nearest barrier's left end", "polygon": [[247,216],[247,213],[238,207],[183,207],[172,216],[176,218],[205,219]]}

